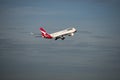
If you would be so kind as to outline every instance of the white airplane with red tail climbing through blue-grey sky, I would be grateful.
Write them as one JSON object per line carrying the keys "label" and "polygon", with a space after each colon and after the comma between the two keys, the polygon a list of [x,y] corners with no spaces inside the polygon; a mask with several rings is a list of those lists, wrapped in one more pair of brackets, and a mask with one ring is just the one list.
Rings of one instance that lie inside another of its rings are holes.
{"label": "white airplane with red tail climbing through blue-grey sky", "polygon": [[46,32],[46,30],[43,27],[40,27],[39,29],[40,29],[41,35],[35,35],[32,32],[31,32],[31,34],[35,35],[36,37],[42,37],[45,39],[55,39],[55,40],[57,40],[57,39],[64,40],[66,35],[73,36],[74,33],[77,32],[77,30],[75,28],[67,28],[67,29],[49,34]]}

